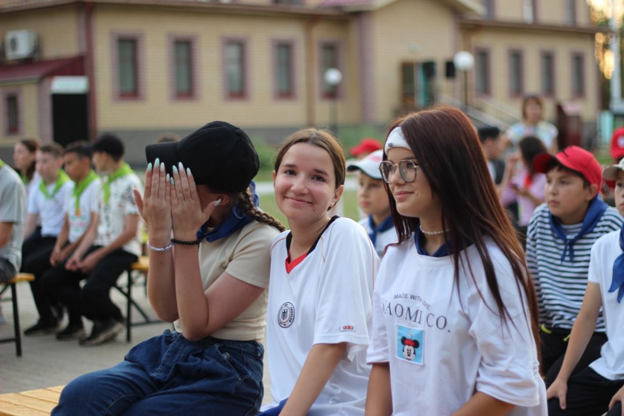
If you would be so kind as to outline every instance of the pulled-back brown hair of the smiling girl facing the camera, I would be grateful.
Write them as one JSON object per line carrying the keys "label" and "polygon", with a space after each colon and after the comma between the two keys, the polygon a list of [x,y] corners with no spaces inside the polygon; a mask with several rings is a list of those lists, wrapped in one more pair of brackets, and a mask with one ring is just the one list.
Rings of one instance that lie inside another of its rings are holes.
{"label": "pulled-back brown hair of the smiling girl facing the camera", "polygon": [[314,127],[308,127],[307,129],[296,131],[283,142],[275,159],[275,172],[280,170],[281,161],[284,159],[284,155],[288,152],[288,149],[295,146],[297,143],[312,144],[313,146],[321,147],[321,149],[328,152],[329,157],[331,157],[331,164],[334,166],[336,188],[344,185],[346,161],[344,160],[344,152],[338,143],[338,139],[336,139],[331,132],[315,129]]}

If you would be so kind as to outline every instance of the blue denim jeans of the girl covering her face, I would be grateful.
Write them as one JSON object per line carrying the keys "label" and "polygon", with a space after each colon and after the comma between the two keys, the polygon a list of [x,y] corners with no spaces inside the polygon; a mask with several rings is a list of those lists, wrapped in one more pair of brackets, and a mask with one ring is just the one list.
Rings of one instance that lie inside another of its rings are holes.
{"label": "blue denim jeans of the girl covering her face", "polygon": [[263,354],[255,341],[191,342],[165,330],[115,367],[67,384],[52,415],[255,415]]}

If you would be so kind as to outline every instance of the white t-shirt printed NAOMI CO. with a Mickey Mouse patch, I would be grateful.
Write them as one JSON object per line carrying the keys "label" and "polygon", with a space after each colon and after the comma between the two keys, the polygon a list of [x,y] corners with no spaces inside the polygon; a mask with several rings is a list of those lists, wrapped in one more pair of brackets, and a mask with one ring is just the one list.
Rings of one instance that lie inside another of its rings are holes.
{"label": "white t-shirt printed NAOMI CO. with a Mickey Mouse patch", "polygon": [[375,282],[368,362],[389,362],[394,415],[451,415],[475,392],[516,405],[509,415],[547,415],[526,297],[499,247],[488,240],[487,250],[512,317],[507,324],[474,245],[462,260],[477,285],[466,267],[459,290],[451,255],[418,254],[413,235],[388,248]]}

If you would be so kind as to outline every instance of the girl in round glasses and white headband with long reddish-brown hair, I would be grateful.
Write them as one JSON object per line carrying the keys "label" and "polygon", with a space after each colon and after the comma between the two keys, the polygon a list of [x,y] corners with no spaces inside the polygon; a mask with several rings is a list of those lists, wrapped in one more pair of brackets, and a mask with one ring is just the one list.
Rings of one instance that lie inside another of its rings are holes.
{"label": "girl in round glasses and white headband with long reddish-brown hair", "polygon": [[369,415],[546,415],[537,302],[477,133],[459,110],[391,127],[399,242],[375,281]]}

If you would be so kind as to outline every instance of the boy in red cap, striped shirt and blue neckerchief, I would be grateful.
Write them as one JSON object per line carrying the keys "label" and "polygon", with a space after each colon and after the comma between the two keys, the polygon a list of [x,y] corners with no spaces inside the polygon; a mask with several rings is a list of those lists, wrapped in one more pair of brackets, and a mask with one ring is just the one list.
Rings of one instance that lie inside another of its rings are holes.
{"label": "boy in red cap, striped shirt and blue neckerchief", "polygon": [[[535,157],[536,172],[546,174],[545,204],[535,209],[527,230],[527,264],[540,307],[542,371],[550,385],[561,368],[574,320],[580,310],[593,243],[622,226],[617,209],[598,195],[602,168],[577,146],[556,155]],[[600,357],[607,340],[602,315],[572,374]]]}

